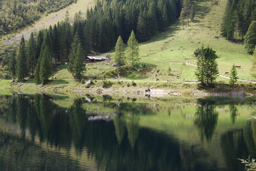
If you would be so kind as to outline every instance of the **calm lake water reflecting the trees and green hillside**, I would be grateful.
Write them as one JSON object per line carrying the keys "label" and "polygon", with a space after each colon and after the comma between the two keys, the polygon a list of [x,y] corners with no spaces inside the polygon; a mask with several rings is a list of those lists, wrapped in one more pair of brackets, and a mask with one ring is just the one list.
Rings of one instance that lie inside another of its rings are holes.
{"label": "calm lake water reflecting the trees and green hillside", "polygon": [[245,170],[255,100],[0,96],[0,170]]}

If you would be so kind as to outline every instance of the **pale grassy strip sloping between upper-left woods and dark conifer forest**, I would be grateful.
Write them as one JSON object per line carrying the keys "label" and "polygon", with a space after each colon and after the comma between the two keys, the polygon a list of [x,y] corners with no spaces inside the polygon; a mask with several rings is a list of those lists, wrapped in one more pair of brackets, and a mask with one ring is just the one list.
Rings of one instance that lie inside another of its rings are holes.
{"label": "pale grassy strip sloping between upper-left woods and dark conifer forest", "polygon": [[71,21],[74,18],[75,12],[81,11],[83,17],[86,15],[88,8],[94,5],[94,0],[78,0],[77,3],[73,3],[67,6],[65,9],[59,10],[57,12],[42,15],[42,17],[35,21],[33,25],[23,28],[19,33],[17,33],[13,38],[3,41],[5,44],[11,44],[13,42],[18,42],[23,34],[25,39],[29,39],[32,31],[38,31],[43,28],[49,28],[50,25],[53,26],[58,22],[61,22],[65,18],[66,11],[69,11],[69,18]]}

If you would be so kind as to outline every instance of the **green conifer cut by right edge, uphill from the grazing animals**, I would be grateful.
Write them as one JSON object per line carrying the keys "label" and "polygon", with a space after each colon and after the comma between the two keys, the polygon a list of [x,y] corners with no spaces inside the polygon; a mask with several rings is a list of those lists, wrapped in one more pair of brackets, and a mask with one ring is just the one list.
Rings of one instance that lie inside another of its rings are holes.
{"label": "green conifer cut by right edge, uphill from the grazing animals", "polygon": [[256,45],[256,21],[251,22],[251,25],[245,35],[245,48],[250,54],[253,53]]}

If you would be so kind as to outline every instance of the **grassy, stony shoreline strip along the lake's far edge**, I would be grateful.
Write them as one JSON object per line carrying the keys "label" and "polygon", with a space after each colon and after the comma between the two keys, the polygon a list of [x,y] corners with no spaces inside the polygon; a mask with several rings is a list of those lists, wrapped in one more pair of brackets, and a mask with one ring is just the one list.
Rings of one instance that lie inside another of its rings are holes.
{"label": "grassy, stony shoreline strip along the lake's far edge", "polygon": [[[55,81],[55,80],[54,80]],[[35,85],[29,81],[24,83],[14,82],[11,80],[0,80],[0,94],[1,91],[19,91],[31,93],[73,93],[85,95],[87,93],[97,93],[98,95],[150,95],[154,97],[167,96],[193,96],[195,98],[202,96],[255,96],[256,88],[254,84],[238,83],[231,87],[226,83],[217,83],[215,88],[198,89],[197,84],[190,84],[186,82],[179,83],[137,83],[137,86],[127,86],[130,82],[117,82],[108,88],[102,87],[102,80],[94,80],[89,88],[85,84],[78,82],[59,84],[51,80],[48,84]],[[62,80],[63,81],[63,80]],[[1,83],[2,82],[2,83]],[[150,88],[150,93],[145,89]]]}

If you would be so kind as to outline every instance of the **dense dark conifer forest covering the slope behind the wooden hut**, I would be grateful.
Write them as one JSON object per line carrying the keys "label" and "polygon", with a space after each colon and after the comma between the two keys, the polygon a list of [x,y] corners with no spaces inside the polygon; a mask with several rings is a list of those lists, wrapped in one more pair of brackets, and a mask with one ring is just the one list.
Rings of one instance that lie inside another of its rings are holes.
{"label": "dense dark conifer forest covering the slope behind the wooden hut", "polygon": [[98,1],[94,9],[87,10],[86,19],[82,18],[81,13],[76,13],[73,25],[69,23],[67,12],[65,21],[50,26],[49,29],[31,33],[27,43],[22,43],[22,40],[19,51],[14,50],[9,53],[9,57],[2,54],[2,66],[9,67],[6,67],[6,71],[2,71],[1,78],[14,77],[16,74],[18,76],[20,72],[22,72],[22,76],[18,76],[20,80],[24,80],[27,76],[34,78],[38,59],[44,51],[42,47],[46,46],[49,51],[47,53],[50,54],[56,68],[58,64],[68,60],[75,34],[78,35],[85,55],[112,50],[118,36],[127,43],[132,30],[138,41],[144,42],[158,31],[165,31],[167,26],[173,24],[179,17],[181,9],[180,0]]}

